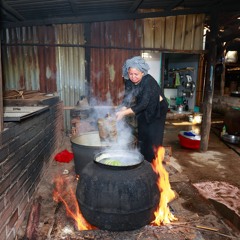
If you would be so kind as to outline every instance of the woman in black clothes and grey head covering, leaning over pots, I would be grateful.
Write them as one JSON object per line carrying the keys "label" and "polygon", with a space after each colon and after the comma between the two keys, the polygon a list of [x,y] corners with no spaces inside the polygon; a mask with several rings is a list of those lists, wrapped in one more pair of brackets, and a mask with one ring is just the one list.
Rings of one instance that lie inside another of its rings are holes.
{"label": "woman in black clothes and grey head covering, leaning over pots", "polygon": [[152,162],[154,148],[163,143],[168,103],[148,70],[148,64],[140,56],[124,63],[125,94],[123,107],[116,113],[116,118],[121,120],[127,115],[136,115],[140,151],[145,160]]}

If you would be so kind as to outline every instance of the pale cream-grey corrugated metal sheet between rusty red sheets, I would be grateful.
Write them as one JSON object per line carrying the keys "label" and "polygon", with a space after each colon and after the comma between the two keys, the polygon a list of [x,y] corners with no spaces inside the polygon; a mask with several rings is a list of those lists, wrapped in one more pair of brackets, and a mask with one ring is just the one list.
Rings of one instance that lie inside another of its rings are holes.
{"label": "pale cream-grey corrugated metal sheet between rusty red sheets", "polygon": [[84,26],[64,24],[55,27],[57,92],[63,100],[65,129],[71,129],[70,109],[86,95]]}

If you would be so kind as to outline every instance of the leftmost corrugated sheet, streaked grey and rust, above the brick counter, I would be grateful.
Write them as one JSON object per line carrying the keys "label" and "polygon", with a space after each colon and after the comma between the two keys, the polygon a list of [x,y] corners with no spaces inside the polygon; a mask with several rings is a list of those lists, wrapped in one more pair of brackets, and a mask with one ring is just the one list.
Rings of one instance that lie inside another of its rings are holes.
{"label": "leftmost corrugated sheet, streaked grey and rust, above the brick counter", "polygon": [[[32,43],[36,39],[38,39],[37,28],[10,28],[3,31],[3,41],[10,44],[2,45],[5,90],[40,89],[38,47],[19,45]],[[36,42],[39,43],[39,41]]]}

